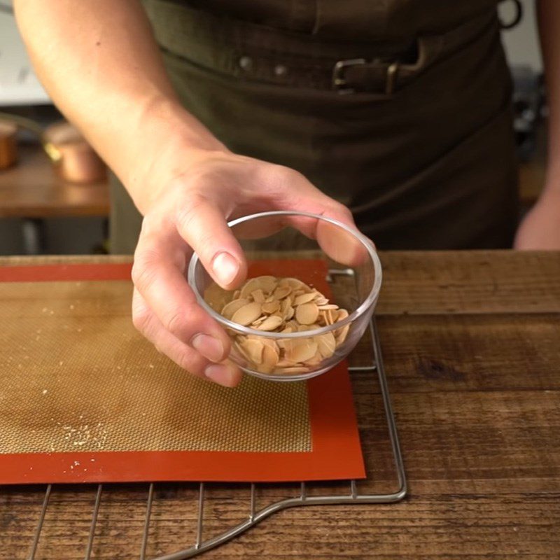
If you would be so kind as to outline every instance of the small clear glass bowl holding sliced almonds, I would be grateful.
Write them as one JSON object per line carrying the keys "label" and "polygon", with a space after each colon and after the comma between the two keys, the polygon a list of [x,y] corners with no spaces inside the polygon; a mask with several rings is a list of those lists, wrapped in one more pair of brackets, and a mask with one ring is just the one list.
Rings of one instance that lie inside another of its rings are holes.
{"label": "small clear glass bowl holding sliced almonds", "polygon": [[[258,330],[221,315],[223,305],[233,299],[235,290],[220,288],[195,253],[188,267],[188,282],[200,305],[232,338],[230,358],[244,372],[273,381],[299,381],[328,372],[356,346],[377,304],[381,262],[370,239],[332,218],[296,211],[251,214],[228,225],[244,249],[249,265],[247,279],[261,274],[279,279],[290,276],[317,286],[319,291],[328,279],[337,276],[351,284],[351,289],[343,290],[339,300],[336,295],[330,300],[348,311],[348,316],[340,314],[341,320],[335,323],[324,326],[314,323],[305,327],[311,330],[290,333]],[[252,265],[258,267],[259,274],[251,274]],[[330,317],[330,321],[337,320],[336,316]],[[257,354],[261,347],[272,346],[279,353],[282,365],[271,367],[269,360],[263,365],[259,362],[262,353],[256,358],[254,352],[247,353],[244,344],[248,339],[255,341],[250,344]],[[294,349],[298,350],[294,352]],[[313,349],[315,355],[309,358]],[[286,364],[284,355],[292,360],[294,356],[309,359],[305,363]]]}

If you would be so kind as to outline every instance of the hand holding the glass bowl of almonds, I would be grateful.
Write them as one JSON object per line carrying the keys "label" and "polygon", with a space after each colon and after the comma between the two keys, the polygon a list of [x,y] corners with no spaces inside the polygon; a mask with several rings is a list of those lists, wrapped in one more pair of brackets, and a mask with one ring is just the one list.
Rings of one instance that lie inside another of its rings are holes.
{"label": "hand holding the glass bowl of almonds", "polygon": [[[175,169],[173,178],[154,191],[142,209],[144,222],[132,268],[133,321],[181,367],[235,386],[241,372],[227,360],[230,339],[197,304],[186,281],[193,250],[216,283],[232,289],[244,280],[246,261],[228,219],[289,209],[330,216],[348,225],[353,220],[346,207],[293,169],[228,151],[200,151],[191,153],[188,163],[183,161],[181,155],[176,165],[167,165]],[[144,180],[156,184],[154,174]]]}

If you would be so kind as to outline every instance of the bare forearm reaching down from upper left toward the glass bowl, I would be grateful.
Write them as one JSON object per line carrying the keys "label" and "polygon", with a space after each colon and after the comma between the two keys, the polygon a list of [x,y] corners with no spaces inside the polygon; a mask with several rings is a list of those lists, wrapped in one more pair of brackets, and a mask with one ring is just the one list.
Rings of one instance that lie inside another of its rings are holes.
{"label": "bare forearm reaching down from upper left toward the glass bowl", "polygon": [[[146,185],[146,167],[165,167],[170,144],[187,152],[222,148],[181,108],[139,1],[15,0],[15,13],[52,100],[141,211],[158,188]],[[171,178],[174,169],[166,174]]]}

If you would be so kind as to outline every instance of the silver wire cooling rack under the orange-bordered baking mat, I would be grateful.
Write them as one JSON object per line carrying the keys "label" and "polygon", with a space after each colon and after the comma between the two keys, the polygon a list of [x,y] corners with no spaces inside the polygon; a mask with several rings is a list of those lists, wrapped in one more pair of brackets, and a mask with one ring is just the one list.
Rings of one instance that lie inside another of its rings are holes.
{"label": "silver wire cooling rack under the orange-bordered baking mat", "polygon": [[[328,279],[332,281],[333,276],[353,276],[351,270],[339,270],[334,269],[329,271]],[[248,500],[246,500],[246,518],[235,526],[231,526],[225,531],[212,535],[211,537],[206,537],[205,535],[205,523],[204,523],[204,506],[207,503],[206,496],[209,488],[214,485],[214,483],[200,482],[197,484],[197,504],[196,504],[196,521],[195,521],[195,542],[188,548],[179,550],[178,552],[170,552],[169,554],[159,554],[158,556],[149,556],[150,560],[183,560],[187,558],[192,558],[206,552],[209,549],[223,545],[225,542],[230,541],[237,535],[244,533],[249,528],[258,524],[259,521],[265,519],[272,514],[279,512],[281,510],[286,510],[288,507],[303,507],[309,505],[351,505],[351,504],[376,504],[376,503],[394,503],[402,500],[407,493],[407,482],[404,465],[402,463],[402,453],[400,450],[400,444],[398,441],[398,433],[395,424],[395,417],[393,415],[393,409],[391,407],[391,398],[388,391],[386,375],[384,371],[383,358],[381,356],[381,346],[379,344],[379,335],[377,332],[377,325],[375,320],[372,319],[370,322],[370,341],[372,349],[372,363],[368,365],[359,365],[349,367],[350,372],[371,372],[372,382],[374,382],[374,376],[377,374],[377,379],[379,381],[379,388],[381,391],[381,397],[384,405],[384,416],[386,420],[386,428],[388,431],[388,437],[391,442],[391,453],[393,460],[393,475],[396,480],[396,489],[393,491],[387,491],[384,493],[360,493],[358,485],[360,482],[356,480],[351,480],[346,483],[346,491],[342,489],[342,493],[330,493],[325,491],[324,493],[309,493],[309,483],[301,482],[299,484],[299,491],[297,495],[285,498],[282,500],[276,500],[269,503],[265,507],[260,509],[257,507],[257,492],[260,484],[250,484],[248,485]],[[367,473],[368,478],[370,473]],[[344,483],[342,483],[344,484]],[[92,552],[94,549],[94,540],[96,535],[97,521],[99,517],[99,508],[102,504],[104,492],[111,491],[111,484],[98,484],[90,485],[90,491],[92,493],[92,498],[94,496],[94,505],[91,514],[90,528],[87,536],[87,542],[85,545],[83,558],[85,560],[90,560]],[[151,516],[153,511],[154,494],[156,489],[156,483],[149,483],[147,486],[147,500],[146,500],[146,513],[144,517],[144,526],[141,531],[141,539],[138,543],[138,558],[140,560],[147,560],[146,550],[148,547],[148,540],[151,528]],[[41,511],[36,522],[36,528],[34,530],[34,535],[32,542],[30,543],[28,560],[36,560],[36,554],[39,542],[41,541],[41,531],[43,529],[43,524],[45,521],[45,516],[47,515],[50,497],[52,493],[52,485],[48,484],[44,491],[43,504]]]}

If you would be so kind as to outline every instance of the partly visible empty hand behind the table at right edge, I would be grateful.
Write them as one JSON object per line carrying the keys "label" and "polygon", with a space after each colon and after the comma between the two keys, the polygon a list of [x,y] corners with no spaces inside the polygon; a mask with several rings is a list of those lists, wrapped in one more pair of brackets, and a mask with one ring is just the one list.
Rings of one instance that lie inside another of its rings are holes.
{"label": "partly visible empty hand behind the table at right edge", "polygon": [[560,250],[560,190],[545,190],[515,236],[516,249]]}

